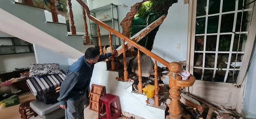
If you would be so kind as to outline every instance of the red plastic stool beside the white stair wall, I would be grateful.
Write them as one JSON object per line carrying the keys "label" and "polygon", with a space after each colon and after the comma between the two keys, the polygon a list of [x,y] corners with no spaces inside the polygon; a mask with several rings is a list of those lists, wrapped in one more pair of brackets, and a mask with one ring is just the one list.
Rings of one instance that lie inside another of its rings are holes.
{"label": "red plastic stool beside the white stair wall", "polygon": [[[117,108],[111,106],[111,103],[113,103],[113,102],[116,103]],[[99,111],[98,111],[99,117],[98,118],[103,118],[103,119],[112,119],[113,118],[114,119],[116,117],[121,116],[120,110],[119,110],[119,102],[117,101],[116,96],[114,96],[113,94],[108,93],[108,94],[105,94],[105,96],[100,97],[99,98],[99,107],[101,107],[102,104],[105,105],[105,106],[103,106],[103,107],[105,107],[105,109],[99,109]],[[117,110],[117,113],[113,114],[113,116],[111,116],[112,109]],[[100,115],[101,113],[104,113],[104,112],[106,112],[106,114],[105,114],[106,118]]]}

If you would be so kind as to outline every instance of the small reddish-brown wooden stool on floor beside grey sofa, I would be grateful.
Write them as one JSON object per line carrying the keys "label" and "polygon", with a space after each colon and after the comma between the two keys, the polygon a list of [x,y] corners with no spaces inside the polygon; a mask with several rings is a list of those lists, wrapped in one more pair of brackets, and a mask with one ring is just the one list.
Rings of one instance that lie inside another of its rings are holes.
{"label": "small reddish-brown wooden stool on floor beside grey sofa", "polygon": [[[23,104],[20,104],[19,105],[19,113],[20,113],[20,118],[23,118],[23,119],[27,119],[27,112],[30,112],[32,113],[33,112],[33,115],[36,117],[37,116],[37,113],[35,113],[29,106],[30,102],[31,101],[34,101],[34,100],[30,100],[30,101],[27,101]],[[27,111],[28,110],[28,111]]]}

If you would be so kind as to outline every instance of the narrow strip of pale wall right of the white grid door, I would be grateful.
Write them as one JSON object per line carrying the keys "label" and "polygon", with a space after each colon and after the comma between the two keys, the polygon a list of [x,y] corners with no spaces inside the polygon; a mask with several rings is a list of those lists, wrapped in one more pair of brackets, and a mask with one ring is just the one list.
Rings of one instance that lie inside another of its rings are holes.
{"label": "narrow strip of pale wall right of the white grid door", "polygon": [[[256,38],[255,38],[256,39]],[[256,118],[256,42],[254,41],[254,46],[251,54],[251,64],[249,65],[245,91],[244,91],[244,104],[243,104],[243,112],[247,118]],[[253,57],[254,56],[254,57]]]}

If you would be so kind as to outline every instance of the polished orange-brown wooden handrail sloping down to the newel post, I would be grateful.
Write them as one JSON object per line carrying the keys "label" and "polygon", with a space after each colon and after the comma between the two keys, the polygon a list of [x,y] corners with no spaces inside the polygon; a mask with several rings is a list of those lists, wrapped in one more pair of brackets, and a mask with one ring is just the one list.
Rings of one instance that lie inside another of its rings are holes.
{"label": "polished orange-brown wooden handrail sloping down to the newel post", "polygon": [[95,23],[97,23],[101,27],[105,28],[106,30],[110,31],[111,33],[115,34],[117,37],[123,39],[124,41],[126,41],[130,44],[132,44],[134,47],[136,47],[138,50],[140,50],[144,54],[152,57],[153,59],[157,60],[158,62],[160,62],[164,66],[170,68],[169,62],[167,62],[163,58],[157,56],[156,54],[152,53],[151,51],[147,50],[145,47],[139,45],[137,42],[131,40],[130,38],[127,38],[123,34],[121,34],[118,31],[112,29],[111,27],[109,27],[105,23],[101,22],[100,20],[96,19],[94,16],[91,15],[89,7],[85,3],[83,3],[81,0],[76,0],[76,1],[86,10],[88,18],[90,18],[92,21],[94,21]]}

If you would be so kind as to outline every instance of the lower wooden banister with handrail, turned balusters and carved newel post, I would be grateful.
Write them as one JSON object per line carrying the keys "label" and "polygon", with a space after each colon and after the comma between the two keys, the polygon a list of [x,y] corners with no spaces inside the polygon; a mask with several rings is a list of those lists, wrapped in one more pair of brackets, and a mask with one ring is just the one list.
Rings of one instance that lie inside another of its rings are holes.
{"label": "lower wooden banister with handrail, turned balusters and carved newel post", "polygon": [[[130,38],[127,38],[126,36],[124,36],[123,34],[119,33],[118,31],[112,29],[111,27],[109,27],[108,25],[106,25],[105,23],[101,22],[100,20],[96,19],[95,17],[93,17],[90,14],[90,10],[88,8],[88,6],[86,4],[84,4],[81,0],[76,0],[82,7],[83,9],[86,11],[87,16],[89,19],[93,20],[95,23],[97,23],[97,31],[98,31],[98,37],[99,37],[99,47],[100,47],[100,53],[103,54],[102,52],[102,44],[101,44],[101,38],[100,38],[100,29],[99,26],[101,26],[102,28],[108,30],[110,32],[110,46],[112,47],[112,39],[111,39],[111,34],[114,34],[116,36],[118,36],[119,38],[121,38],[123,40],[122,43],[122,49],[123,49],[123,63],[124,63],[124,80],[127,81],[128,78],[128,73],[127,73],[127,65],[126,65],[126,57],[125,57],[125,52],[127,50],[127,46],[125,46],[124,42],[129,43],[131,46],[136,47],[138,49],[138,76],[139,76],[139,85],[138,85],[138,92],[142,93],[142,78],[141,78],[141,61],[140,61],[140,52],[143,52],[144,54],[150,56],[151,58],[155,59],[155,70],[157,71],[157,62],[160,62],[161,64],[163,64],[164,66],[168,67],[169,71],[170,71],[170,75],[169,75],[169,98],[172,99],[172,102],[169,105],[169,109],[170,109],[170,118],[181,118],[181,113],[182,113],[182,108],[180,106],[180,94],[181,94],[181,87],[189,87],[192,86],[196,79],[193,75],[190,75],[190,78],[188,80],[182,80],[180,75],[177,75],[177,73],[180,71],[181,69],[181,65],[178,62],[167,62],[166,60],[164,60],[163,58],[157,56],[156,54],[152,53],[151,51],[148,51],[147,49],[145,49],[145,47],[139,45],[136,41],[133,41]],[[111,58],[112,59],[112,70],[115,69],[114,66],[114,57]],[[157,72],[155,72],[155,77],[157,78]],[[158,82],[157,80],[155,80],[155,106],[159,106],[159,98],[158,98]]]}

